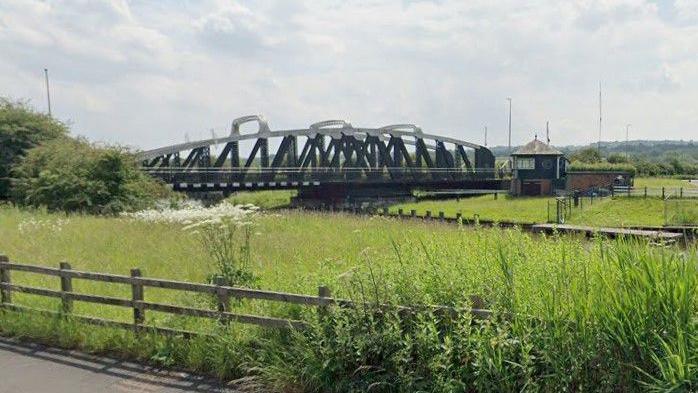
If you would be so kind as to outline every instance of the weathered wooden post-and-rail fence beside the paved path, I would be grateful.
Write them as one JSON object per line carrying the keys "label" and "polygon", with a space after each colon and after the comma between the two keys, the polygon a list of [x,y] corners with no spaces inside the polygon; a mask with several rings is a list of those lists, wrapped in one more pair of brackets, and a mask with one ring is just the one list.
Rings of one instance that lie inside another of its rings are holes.
{"label": "weathered wooden post-and-rail fence beside the paved path", "polygon": [[[21,271],[28,273],[35,273],[44,276],[53,276],[60,279],[60,291],[52,290],[47,288],[36,288],[25,285],[13,284],[11,280],[12,271]],[[127,284],[131,286],[131,298],[115,298],[107,296],[97,296],[83,293],[73,292],[73,280],[88,280],[88,281],[100,281],[105,283],[116,283],[116,284]],[[192,308],[185,306],[177,306],[171,304],[155,303],[145,301],[145,289],[148,287],[169,289],[175,291],[187,291],[195,293],[204,293],[215,296],[217,298],[217,310],[208,310],[200,308]],[[31,295],[38,295],[44,297],[53,297],[61,299],[61,310],[51,311],[31,308],[19,304],[12,303],[12,293],[26,293]],[[304,306],[314,306],[322,310],[330,305],[338,305],[341,307],[355,307],[356,304],[350,300],[335,299],[330,297],[331,293],[329,288],[320,286],[318,287],[318,296],[310,295],[300,295],[293,293],[283,293],[274,291],[265,291],[258,289],[249,288],[239,288],[239,287],[229,287],[222,285],[220,280],[215,284],[198,284],[183,281],[172,281],[163,280],[155,278],[146,278],[141,275],[140,269],[131,269],[130,276],[116,275],[116,274],[106,274],[106,273],[95,273],[95,272],[85,272],[71,269],[70,264],[66,262],[60,263],[58,268],[37,266],[37,265],[27,265],[10,262],[6,256],[0,255],[0,307],[13,310],[13,311],[29,311],[40,313],[49,316],[70,316],[72,319],[97,325],[104,325],[110,327],[119,328],[129,328],[136,332],[139,331],[155,331],[162,334],[174,334],[174,335],[184,335],[192,336],[199,333],[184,331],[178,329],[164,328],[147,325],[146,311],[158,311],[169,314],[193,316],[200,318],[209,318],[219,320],[221,322],[239,322],[246,324],[253,324],[262,327],[273,327],[273,328],[293,328],[293,329],[303,329],[308,325],[304,321],[274,318],[268,316],[258,316],[258,315],[247,315],[238,314],[230,312],[230,299],[258,299],[258,300],[268,300],[283,303],[299,304]],[[131,308],[133,310],[133,322],[120,322],[108,319],[101,319],[95,317],[74,315],[73,302],[88,302],[97,303],[110,306],[120,306]],[[491,315],[489,310],[482,309],[483,302],[477,296],[470,296],[470,302],[472,308],[468,309],[469,312],[473,314],[476,318],[487,318]],[[385,305],[381,305],[385,306]],[[434,312],[460,312],[463,309],[455,309],[447,306],[386,306],[394,307],[398,310],[408,310],[414,311],[417,309],[428,309]]]}

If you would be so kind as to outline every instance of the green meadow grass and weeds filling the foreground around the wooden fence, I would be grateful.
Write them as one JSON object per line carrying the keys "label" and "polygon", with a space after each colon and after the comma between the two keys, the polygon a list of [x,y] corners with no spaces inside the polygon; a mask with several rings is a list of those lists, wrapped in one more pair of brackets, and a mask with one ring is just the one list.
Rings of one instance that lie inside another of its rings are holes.
{"label": "green meadow grass and weeds filling the foreground around the wooden fence", "polygon": [[[698,388],[698,255],[630,240],[587,241],[517,229],[463,228],[300,211],[264,214],[252,237],[263,289],[359,301],[467,306],[478,295],[495,317],[473,321],[375,307],[315,310],[234,302],[234,310],[302,318],[291,333],[148,313],[162,326],[218,335],[184,341],[71,320],[3,313],[4,334],[120,354],[221,378],[253,374],[278,391],[635,391]],[[0,208],[0,250],[13,261],[204,282],[212,262],[179,225]],[[16,273],[16,274],[15,274]],[[13,272],[13,282],[58,280]],[[128,297],[129,288],[76,280],[76,291]],[[164,290],[146,300],[209,305]],[[15,299],[13,299],[15,300]],[[58,302],[16,296],[20,304]],[[76,303],[76,312],[128,320],[128,310]]]}

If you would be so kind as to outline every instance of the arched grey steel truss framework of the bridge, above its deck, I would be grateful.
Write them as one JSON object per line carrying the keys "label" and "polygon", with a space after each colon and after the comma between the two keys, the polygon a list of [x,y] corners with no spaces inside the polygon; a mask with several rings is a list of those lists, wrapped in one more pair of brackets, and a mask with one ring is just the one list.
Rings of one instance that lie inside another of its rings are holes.
{"label": "arched grey steel truss framework of the bridge, above its deck", "polygon": [[[240,126],[250,122],[258,124],[257,132],[241,134]],[[280,138],[281,142],[275,154],[270,155],[268,141],[272,138]],[[306,139],[302,147],[299,138]],[[255,144],[243,162],[239,142],[245,140],[255,140]],[[453,147],[447,148],[446,144]],[[217,157],[212,157],[210,147],[215,145],[225,146]],[[466,148],[474,150],[473,162]],[[184,160],[180,159],[182,153],[187,154]],[[251,173],[266,181],[284,176],[302,178],[306,173],[320,173],[321,177],[336,181],[410,177],[454,180],[493,177],[494,173],[494,156],[486,147],[426,134],[414,124],[364,128],[354,127],[346,120],[325,120],[306,129],[272,131],[261,115],[233,120],[227,137],[148,150],[138,157],[151,172],[163,168],[169,173],[225,169],[235,173],[234,178],[239,181],[249,179]]]}

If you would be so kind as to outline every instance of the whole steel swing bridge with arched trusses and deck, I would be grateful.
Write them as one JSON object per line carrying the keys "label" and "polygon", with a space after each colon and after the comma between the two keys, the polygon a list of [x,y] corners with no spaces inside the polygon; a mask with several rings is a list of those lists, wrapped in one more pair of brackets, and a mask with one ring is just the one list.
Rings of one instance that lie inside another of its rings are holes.
{"label": "whole steel swing bridge with arched trusses and deck", "polygon": [[[254,133],[241,133],[256,123]],[[242,156],[240,143],[253,141]],[[271,153],[270,141],[278,143]],[[219,147],[219,154],[211,154]],[[222,148],[220,148],[222,147]],[[270,154],[271,153],[271,154]],[[236,191],[334,185],[495,188],[492,152],[478,144],[426,134],[414,124],[354,127],[344,120],[272,131],[263,116],[235,119],[230,135],[143,151],[142,169],[185,191]]]}

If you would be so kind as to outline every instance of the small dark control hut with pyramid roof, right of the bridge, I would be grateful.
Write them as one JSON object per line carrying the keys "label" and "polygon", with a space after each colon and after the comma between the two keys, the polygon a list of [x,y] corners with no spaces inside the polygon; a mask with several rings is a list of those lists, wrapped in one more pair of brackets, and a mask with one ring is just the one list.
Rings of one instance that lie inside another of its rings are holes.
{"label": "small dark control hut with pyramid roof, right of the bridge", "polygon": [[565,188],[567,159],[538,137],[512,153],[511,160],[512,195],[553,195]]}

